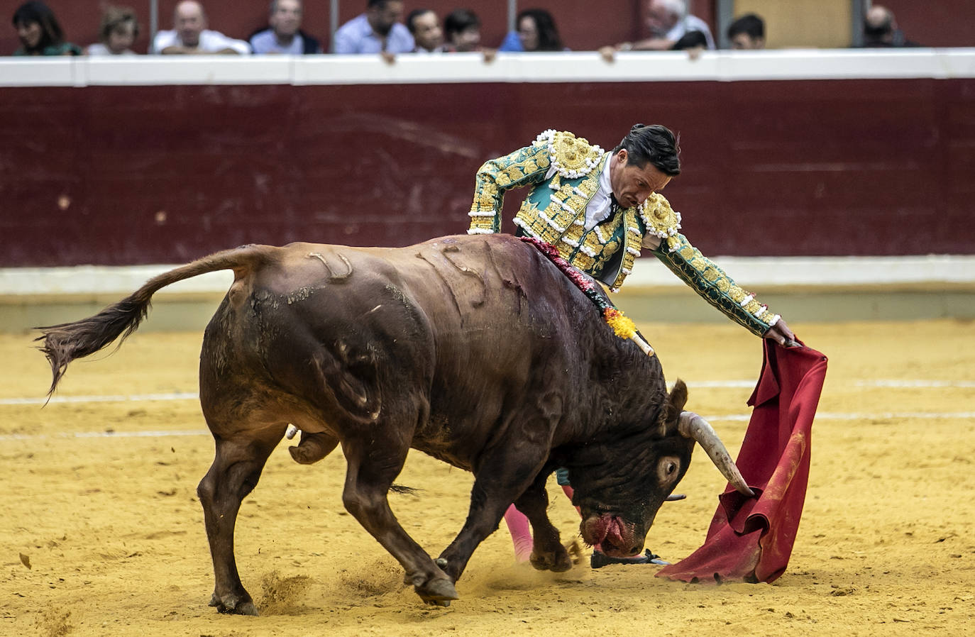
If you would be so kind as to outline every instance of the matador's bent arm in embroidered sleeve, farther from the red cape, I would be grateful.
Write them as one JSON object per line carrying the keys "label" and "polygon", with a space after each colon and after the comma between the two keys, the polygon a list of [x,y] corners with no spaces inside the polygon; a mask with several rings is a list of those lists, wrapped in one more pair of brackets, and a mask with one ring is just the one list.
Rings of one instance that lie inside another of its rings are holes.
{"label": "matador's bent arm in embroidered sleeve, farther from the red cape", "polygon": [[543,141],[535,141],[510,155],[485,162],[478,169],[474,203],[468,213],[471,227],[467,233],[478,235],[500,232],[504,192],[543,181],[549,165],[548,147]]}

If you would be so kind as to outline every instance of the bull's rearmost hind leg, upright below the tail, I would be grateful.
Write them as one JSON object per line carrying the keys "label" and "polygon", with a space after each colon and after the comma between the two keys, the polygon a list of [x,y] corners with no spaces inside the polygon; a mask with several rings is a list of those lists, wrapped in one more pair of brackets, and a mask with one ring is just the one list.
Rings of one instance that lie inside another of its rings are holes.
{"label": "bull's rearmost hind leg, upright below the tail", "polygon": [[197,487],[214,559],[215,585],[210,605],[220,613],[257,615],[254,600],[237,573],[234,527],[241,501],[257,486],[260,472],[284,431],[285,424],[281,424],[237,433],[232,438],[215,436],[214,464]]}

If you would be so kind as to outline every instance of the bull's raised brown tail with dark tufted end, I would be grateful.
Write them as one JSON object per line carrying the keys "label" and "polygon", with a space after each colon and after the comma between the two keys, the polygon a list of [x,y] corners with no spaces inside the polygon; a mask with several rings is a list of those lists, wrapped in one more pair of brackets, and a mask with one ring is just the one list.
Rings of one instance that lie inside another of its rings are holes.
{"label": "bull's raised brown tail with dark tufted end", "polygon": [[243,245],[232,250],[216,252],[192,263],[163,273],[146,281],[135,292],[118,303],[108,306],[94,317],[82,318],[70,323],[38,327],[43,334],[34,340],[44,341],[38,349],[51,363],[53,379],[50,396],[58,388],[69,362],[95,354],[106,345],[122,337],[122,344],[137,330],[139,323],[149,312],[152,295],[176,281],[190,279],[208,272],[233,270],[237,279],[267,263],[276,248],[268,245]]}

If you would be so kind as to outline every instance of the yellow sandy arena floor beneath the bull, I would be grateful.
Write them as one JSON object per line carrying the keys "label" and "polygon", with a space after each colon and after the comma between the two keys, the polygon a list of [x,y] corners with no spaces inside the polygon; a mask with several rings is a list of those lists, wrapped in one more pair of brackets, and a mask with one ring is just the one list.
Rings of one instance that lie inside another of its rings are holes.
{"label": "yellow sandy arena floor beneath the bull", "polygon": [[[151,320],[151,317],[150,317]],[[812,473],[789,570],[773,584],[690,585],[656,567],[588,564],[539,574],[503,529],[475,552],[449,608],[401,583],[400,566],[341,506],[335,452],[294,464],[282,443],[237,526],[260,618],[220,616],[197,482],[213,460],[198,402],[91,396],[197,391],[201,333],[137,334],[72,365],[45,408],[47,362],[0,336],[0,634],[4,635],[962,635],[975,630],[975,324],[794,325],[830,356]],[[731,324],[643,324],[688,408],[732,451],[761,346]],[[712,383],[712,382],[722,383]],[[740,381],[740,383],[727,383]],[[724,385],[724,386],[722,386]],[[729,386],[727,386],[729,385]],[[107,434],[111,433],[111,434]],[[647,545],[678,560],[704,539],[717,469],[699,451]],[[436,554],[466,515],[470,474],[419,454],[393,495]],[[564,540],[578,519],[552,493]],[[26,565],[29,563],[29,567]]]}

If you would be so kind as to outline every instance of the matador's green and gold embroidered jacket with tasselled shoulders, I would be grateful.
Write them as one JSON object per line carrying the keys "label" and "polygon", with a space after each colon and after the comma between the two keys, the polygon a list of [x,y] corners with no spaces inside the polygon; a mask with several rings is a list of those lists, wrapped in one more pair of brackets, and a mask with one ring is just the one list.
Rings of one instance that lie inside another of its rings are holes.
{"label": "matador's green and gold embroidered jacket with tasselled shoulders", "polygon": [[596,195],[610,153],[571,132],[545,131],[534,143],[478,170],[469,234],[500,232],[504,193],[531,186],[515,216],[519,235],[555,245],[573,266],[617,291],[640,256],[653,254],[728,318],[761,336],[779,316],[746,292],[678,232],[681,214],[654,193],[643,206],[619,208],[587,230],[586,205]]}

